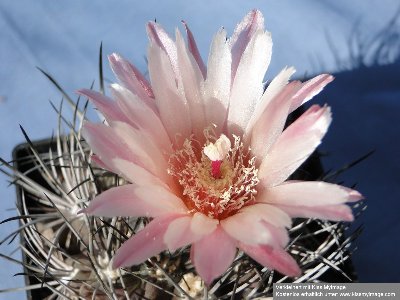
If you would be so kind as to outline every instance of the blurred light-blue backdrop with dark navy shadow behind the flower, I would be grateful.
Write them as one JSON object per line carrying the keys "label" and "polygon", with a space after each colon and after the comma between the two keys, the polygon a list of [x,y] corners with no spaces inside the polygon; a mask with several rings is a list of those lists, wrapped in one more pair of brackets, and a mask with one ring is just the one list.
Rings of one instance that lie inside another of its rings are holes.
{"label": "blurred light-blue backdrop with dark navy shadow behind the flower", "polygon": [[[253,8],[262,11],[274,48],[266,80],[294,66],[298,78],[321,72],[336,80],[315,101],[329,103],[334,121],[322,144],[326,170],[370,150],[375,153],[341,180],[367,198],[357,221],[363,234],[353,262],[361,282],[400,282],[400,2],[398,0],[260,1],[29,1],[0,2],[0,157],[10,160],[24,142],[50,137],[57,125],[60,93],[36,67],[69,94],[98,89],[98,53],[118,52],[146,70],[145,24],[156,19],[172,35],[189,23],[203,59],[214,33],[232,33]],[[106,82],[114,80],[105,62]],[[95,114],[92,115],[95,117]],[[0,175],[0,220],[14,216],[14,187]],[[17,223],[0,225],[0,239]],[[11,254],[16,244],[0,245]],[[15,258],[20,253],[13,254]],[[0,260],[0,289],[24,285],[18,265]],[[23,299],[24,293],[0,294]]]}

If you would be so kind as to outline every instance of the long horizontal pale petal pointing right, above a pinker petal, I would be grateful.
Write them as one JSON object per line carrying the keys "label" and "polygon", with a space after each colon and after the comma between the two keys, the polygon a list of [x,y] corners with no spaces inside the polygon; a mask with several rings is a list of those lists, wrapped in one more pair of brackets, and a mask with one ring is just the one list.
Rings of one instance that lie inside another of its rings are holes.
{"label": "long horizontal pale petal pointing right, above a pinker petal", "polygon": [[362,195],[341,185],[322,181],[287,181],[263,190],[257,201],[291,206],[325,206],[355,202]]}

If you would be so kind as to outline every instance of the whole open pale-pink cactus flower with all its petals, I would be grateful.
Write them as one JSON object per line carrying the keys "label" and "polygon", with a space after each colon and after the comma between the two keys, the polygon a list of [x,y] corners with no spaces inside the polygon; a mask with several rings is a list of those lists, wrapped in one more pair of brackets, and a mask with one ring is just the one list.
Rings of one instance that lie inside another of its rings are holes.
{"label": "whole open pale-pink cactus flower with all its petals", "polygon": [[111,85],[114,99],[79,91],[107,121],[83,129],[96,161],[131,183],[101,193],[84,212],[152,218],[116,252],[114,268],[191,245],[206,284],[229,268],[237,249],[299,276],[285,251],[291,218],[352,221],[345,203],[362,198],[335,184],[288,180],[320,144],[331,112],[313,105],[284,130],[287,116],[333,77],[289,83],[294,69],[284,68],[264,91],[272,41],[257,10],[230,38],[216,33],[207,66],[184,25],[188,45],[178,30],[174,41],[148,24],[150,82],[112,54],[120,81]]}

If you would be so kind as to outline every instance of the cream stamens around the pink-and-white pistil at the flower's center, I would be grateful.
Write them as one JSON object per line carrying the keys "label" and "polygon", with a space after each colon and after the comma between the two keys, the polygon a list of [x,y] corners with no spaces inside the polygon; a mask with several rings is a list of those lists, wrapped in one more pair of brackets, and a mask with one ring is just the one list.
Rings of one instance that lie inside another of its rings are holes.
{"label": "cream stamens around the pink-and-white pistil at the flower's center", "polygon": [[203,147],[186,139],[170,157],[168,172],[178,180],[182,199],[193,213],[221,220],[254,201],[259,182],[255,158],[239,137],[233,138],[232,145],[223,134],[218,139],[206,136]]}

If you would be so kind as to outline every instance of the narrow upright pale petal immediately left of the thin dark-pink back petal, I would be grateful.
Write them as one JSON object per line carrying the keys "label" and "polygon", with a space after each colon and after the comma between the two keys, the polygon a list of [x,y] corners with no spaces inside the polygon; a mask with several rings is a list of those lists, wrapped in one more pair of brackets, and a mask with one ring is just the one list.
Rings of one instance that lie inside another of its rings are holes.
{"label": "narrow upright pale petal immediately left of the thin dark-pink back petal", "polygon": [[185,42],[178,30],[176,30],[176,46],[178,52],[178,67],[182,76],[183,90],[189,106],[190,118],[192,120],[192,131],[196,139],[203,143],[204,128],[211,124],[205,122],[204,101],[200,87],[204,85],[203,75],[188,52]]}

